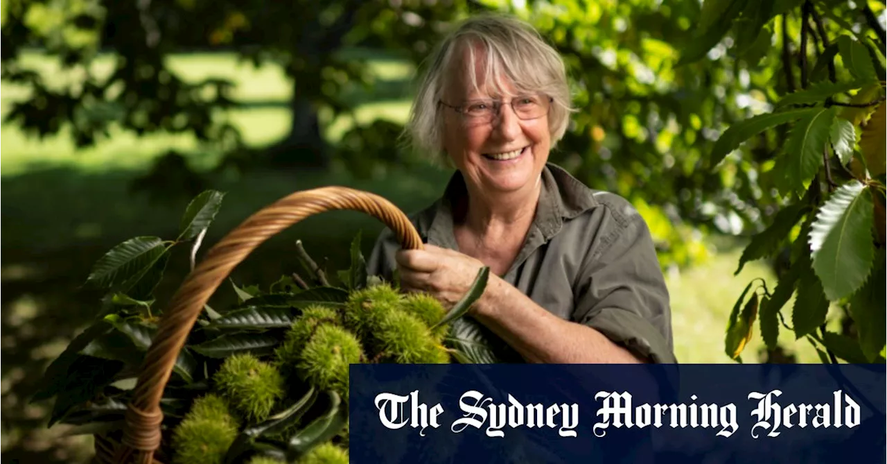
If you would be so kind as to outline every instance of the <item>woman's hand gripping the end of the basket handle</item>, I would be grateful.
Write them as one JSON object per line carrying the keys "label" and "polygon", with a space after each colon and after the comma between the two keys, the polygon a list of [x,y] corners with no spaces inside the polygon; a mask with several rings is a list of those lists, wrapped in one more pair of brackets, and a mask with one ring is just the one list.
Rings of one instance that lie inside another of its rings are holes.
{"label": "woman's hand gripping the end of the basket handle", "polygon": [[468,293],[484,265],[471,256],[434,245],[425,245],[425,249],[402,249],[396,253],[395,260],[404,290],[427,292],[447,310]]}

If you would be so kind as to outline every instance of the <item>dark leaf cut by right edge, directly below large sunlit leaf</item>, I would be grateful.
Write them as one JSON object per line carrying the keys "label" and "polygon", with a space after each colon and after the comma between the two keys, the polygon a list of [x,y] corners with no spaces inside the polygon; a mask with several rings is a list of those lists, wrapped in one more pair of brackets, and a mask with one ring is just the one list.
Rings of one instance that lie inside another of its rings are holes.
{"label": "dark leaf cut by right edge, directly below large sunlit leaf", "polygon": [[850,314],[860,338],[860,350],[867,362],[883,357],[887,349],[887,252],[879,254],[878,264],[866,285],[851,297]]}

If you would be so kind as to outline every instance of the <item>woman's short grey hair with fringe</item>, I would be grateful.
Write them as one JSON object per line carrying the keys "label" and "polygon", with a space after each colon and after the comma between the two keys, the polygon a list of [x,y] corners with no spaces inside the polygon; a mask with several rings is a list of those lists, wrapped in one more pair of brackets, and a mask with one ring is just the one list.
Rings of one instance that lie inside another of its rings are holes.
{"label": "woman's short grey hair with fringe", "polygon": [[[438,111],[448,84],[456,77],[453,62],[459,51],[467,51],[469,83],[476,90],[483,84],[505,94],[497,78],[504,75],[522,92],[541,92],[552,98],[548,130],[552,147],[563,137],[569,125],[570,90],[566,67],[560,54],[522,20],[498,14],[478,15],[463,21],[447,35],[429,57],[430,66],[420,80],[412,101],[404,138],[413,149],[430,153],[446,163],[443,153],[443,118]],[[481,53],[480,57],[475,53]],[[483,81],[470,72],[475,59],[483,61]]]}

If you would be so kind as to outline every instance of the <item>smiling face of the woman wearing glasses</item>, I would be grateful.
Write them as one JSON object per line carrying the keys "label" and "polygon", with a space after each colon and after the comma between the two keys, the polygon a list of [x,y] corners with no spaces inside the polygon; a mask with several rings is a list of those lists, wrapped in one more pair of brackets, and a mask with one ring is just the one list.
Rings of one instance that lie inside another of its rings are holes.
{"label": "smiling face of the woman wearing glasses", "polygon": [[[514,100],[514,107],[520,109],[523,102],[529,101],[523,97],[539,99],[538,95],[516,89],[505,73],[496,72],[495,64],[487,67],[484,54],[477,47],[474,53],[465,47],[460,55],[443,92],[443,102],[461,106],[463,111],[475,100],[493,100],[502,105],[491,122],[475,122],[443,106],[444,151],[466,182],[484,196],[529,192],[535,188],[548,161],[551,148],[548,117],[543,114],[523,120],[509,103]],[[459,72],[462,70],[465,72]],[[547,105],[545,97],[541,102]]]}

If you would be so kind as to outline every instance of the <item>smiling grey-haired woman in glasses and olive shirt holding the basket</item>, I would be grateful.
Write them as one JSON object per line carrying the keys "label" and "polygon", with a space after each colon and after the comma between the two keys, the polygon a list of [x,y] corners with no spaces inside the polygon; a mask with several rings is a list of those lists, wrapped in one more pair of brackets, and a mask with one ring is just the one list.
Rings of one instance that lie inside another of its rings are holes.
{"label": "smiling grey-haired woman in glasses and olive shirt holding the basket", "polygon": [[465,21],[432,57],[407,135],[457,169],[414,214],[426,246],[389,230],[371,274],[459,301],[483,266],[469,315],[534,363],[674,363],[671,311],[647,224],[631,203],[548,162],[571,112],[564,64],[520,20]]}

